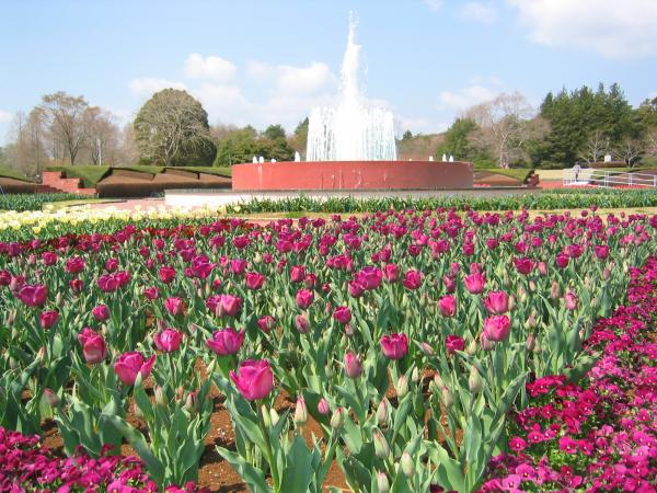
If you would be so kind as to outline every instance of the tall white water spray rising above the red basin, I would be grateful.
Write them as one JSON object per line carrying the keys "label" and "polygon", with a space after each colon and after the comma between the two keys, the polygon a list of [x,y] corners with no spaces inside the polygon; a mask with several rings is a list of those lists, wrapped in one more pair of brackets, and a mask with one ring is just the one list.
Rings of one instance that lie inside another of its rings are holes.
{"label": "tall white water spray rising above the red basin", "polygon": [[309,161],[394,161],[396,148],[392,113],[370,106],[358,83],[360,45],[349,20],[347,50],[341,69],[335,106],[318,107],[308,125]]}

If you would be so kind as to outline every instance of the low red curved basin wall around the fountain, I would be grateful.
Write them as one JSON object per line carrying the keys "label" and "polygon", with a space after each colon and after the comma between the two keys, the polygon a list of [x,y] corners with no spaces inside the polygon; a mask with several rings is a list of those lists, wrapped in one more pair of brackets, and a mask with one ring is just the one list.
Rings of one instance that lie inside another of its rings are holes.
{"label": "low red curved basin wall around the fountain", "polygon": [[472,188],[472,163],[438,161],[264,162],[232,167],[232,190]]}

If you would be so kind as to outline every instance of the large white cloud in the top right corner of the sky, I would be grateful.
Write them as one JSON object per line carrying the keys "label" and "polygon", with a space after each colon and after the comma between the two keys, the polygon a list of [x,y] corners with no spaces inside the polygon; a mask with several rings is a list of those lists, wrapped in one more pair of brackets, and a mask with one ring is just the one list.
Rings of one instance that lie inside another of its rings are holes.
{"label": "large white cloud in the top right corner of the sky", "polygon": [[576,46],[608,58],[657,56],[655,0],[507,0],[545,46]]}

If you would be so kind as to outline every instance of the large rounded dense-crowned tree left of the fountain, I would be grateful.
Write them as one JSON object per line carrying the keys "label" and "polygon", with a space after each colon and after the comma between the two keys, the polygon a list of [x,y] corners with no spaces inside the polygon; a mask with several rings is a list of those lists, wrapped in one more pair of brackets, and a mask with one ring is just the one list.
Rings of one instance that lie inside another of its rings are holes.
{"label": "large rounded dense-crowned tree left of the fountain", "polygon": [[208,114],[186,91],[157,92],[141,106],[134,126],[141,158],[152,163],[209,164],[217,153]]}

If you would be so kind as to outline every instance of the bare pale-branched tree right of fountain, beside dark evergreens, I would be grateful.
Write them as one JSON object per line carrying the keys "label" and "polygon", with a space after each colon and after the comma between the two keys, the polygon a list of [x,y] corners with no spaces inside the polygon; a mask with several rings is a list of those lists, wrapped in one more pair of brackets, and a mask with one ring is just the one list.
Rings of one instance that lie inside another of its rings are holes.
{"label": "bare pale-branched tree right of fountain, beside dark evergreens", "polygon": [[500,168],[507,168],[514,159],[523,158],[529,140],[549,131],[548,122],[535,117],[535,113],[522,94],[514,92],[477,104],[465,111],[463,117],[479,125],[472,134],[473,144],[495,156]]}

